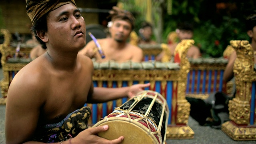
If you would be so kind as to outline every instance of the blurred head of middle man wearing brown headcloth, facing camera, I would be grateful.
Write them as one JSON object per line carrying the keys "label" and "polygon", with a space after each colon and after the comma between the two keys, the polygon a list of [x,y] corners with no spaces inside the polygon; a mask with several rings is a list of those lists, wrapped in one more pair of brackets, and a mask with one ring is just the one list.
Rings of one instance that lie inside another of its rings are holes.
{"label": "blurred head of middle man wearing brown headcloth, facing camera", "polygon": [[111,37],[117,42],[126,42],[134,28],[134,16],[131,12],[121,10],[116,6],[110,11],[110,16],[112,22],[109,26]]}

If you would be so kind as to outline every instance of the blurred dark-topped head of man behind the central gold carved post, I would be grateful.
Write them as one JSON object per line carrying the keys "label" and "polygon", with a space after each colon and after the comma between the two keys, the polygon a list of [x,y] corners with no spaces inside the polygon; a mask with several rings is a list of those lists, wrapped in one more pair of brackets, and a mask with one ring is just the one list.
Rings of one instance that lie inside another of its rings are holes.
{"label": "blurred dark-topped head of man behind the central gold carved post", "polygon": [[193,25],[189,22],[182,22],[178,24],[176,33],[180,40],[192,39],[193,37]]}

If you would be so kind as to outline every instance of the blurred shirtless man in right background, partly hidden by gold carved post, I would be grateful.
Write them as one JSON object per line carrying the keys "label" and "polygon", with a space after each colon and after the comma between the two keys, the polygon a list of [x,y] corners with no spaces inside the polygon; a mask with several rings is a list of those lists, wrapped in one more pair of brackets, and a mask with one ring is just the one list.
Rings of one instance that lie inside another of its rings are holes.
{"label": "blurred shirtless man in right background, partly hidden by gold carved post", "polygon": [[[192,25],[184,22],[179,24],[178,29],[176,29],[176,33],[179,39],[179,42],[181,40],[185,40],[185,39],[192,39],[193,38],[193,28]],[[176,48],[176,46],[178,45],[178,43],[174,43],[174,44],[170,44],[169,45],[169,49],[170,52],[173,56],[174,54],[174,50]],[[160,61],[162,59],[164,55],[164,52],[160,53],[157,57],[156,60]],[[200,57],[200,50],[198,47],[196,46],[192,46],[190,49],[188,49],[188,53],[187,53],[187,57],[188,58],[199,58]]]}

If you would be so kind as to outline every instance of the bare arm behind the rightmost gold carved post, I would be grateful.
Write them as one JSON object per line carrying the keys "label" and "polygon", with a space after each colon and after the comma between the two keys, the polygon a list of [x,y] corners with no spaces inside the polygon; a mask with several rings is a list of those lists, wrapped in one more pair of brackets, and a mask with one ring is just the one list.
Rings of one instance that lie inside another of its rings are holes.
{"label": "bare arm behind the rightmost gold carved post", "polygon": [[225,68],[224,74],[223,74],[223,80],[225,82],[230,81],[234,77],[233,67],[236,60],[236,51],[234,51],[228,60],[228,64]]}

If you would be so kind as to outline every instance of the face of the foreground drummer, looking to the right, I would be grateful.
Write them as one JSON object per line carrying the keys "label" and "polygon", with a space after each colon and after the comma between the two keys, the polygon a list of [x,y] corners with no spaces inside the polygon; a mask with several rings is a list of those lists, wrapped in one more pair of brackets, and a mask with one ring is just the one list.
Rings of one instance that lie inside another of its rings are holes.
{"label": "face of the foreground drummer, looking to the right", "polygon": [[85,22],[74,4],[65,4],[51,11],[47,16],[47,28],[46,44],[62,51],[80,50],[86,44]]}

